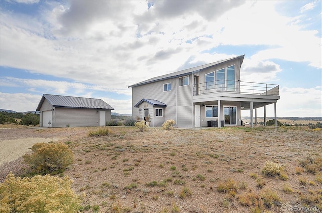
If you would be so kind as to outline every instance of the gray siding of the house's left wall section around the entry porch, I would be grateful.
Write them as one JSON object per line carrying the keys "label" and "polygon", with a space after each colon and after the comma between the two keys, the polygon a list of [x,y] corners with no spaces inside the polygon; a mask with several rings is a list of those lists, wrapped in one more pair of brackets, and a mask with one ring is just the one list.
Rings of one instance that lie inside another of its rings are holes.
{"label": "gray siding of the house's left wall section around the entry porch", "polygon": [[[155,83],[145,84],[141,86],[136,86],[132,88],[132,117],[133,119],[136,118],[136,116],[140,116],[140,119],[143,118],[143,107],[142,104],[136,108],[134,105],[138,103],[142,99],[154,99],[158,100],[160,102],[163,102],[167,105],[167,107],[164,108],[164,121],[168,119],[173,119],[176,121],[176,95],[177,95],[177,80],[178,78],[169,79],[169,80],[163,80]],[[163,85],[166,83],[171,83],[171,91],[163,91]],[[143,103],[144,105],[144,103]],[[156,126],[162,126],[162,123],[160,124],[159,117],[155,117],[155,111],[153,109],[153,106],[149,106],[149,113],[151,116],[151,127]],[[142,109],[139,111],[139,109]],[[155,120],[155,124],[154,124]],[[160,125],[159,125],[160,124]]]}

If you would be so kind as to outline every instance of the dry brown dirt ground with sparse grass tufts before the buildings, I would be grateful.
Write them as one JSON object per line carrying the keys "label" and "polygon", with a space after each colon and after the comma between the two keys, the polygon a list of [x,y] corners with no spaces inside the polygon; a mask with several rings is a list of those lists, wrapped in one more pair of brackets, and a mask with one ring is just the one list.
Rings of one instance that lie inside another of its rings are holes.
{"label": "dry brown dirt ground with sparse grass tufts before the buildings", "polygon": [[[64,175],[73,179],[77,194],[85,193],[83,205],[91,206],[85,212],[111,212],[115,203],[131,209],[128,212],[172,212],[174,205],[180,212],[250,212],[252,206],[241,205],[238,196],[266,189],[282,200],[280,206],[266,208],[267,212],[293,212],[293,207],[301,206],[301,194],[322,187],[314,174],[295,172],[304,157],[322,157],[321,131],[305,127],[224,127],[170,131],[148,128],[141,133],[135,127],[109,128],[112,133],[108,136],[88,137],[88,130],[96,127],[0,127],[0,145],[4,140],[35,138],[59,138],[57,141],[66,143],[74,153],[74,165]],[[0,149],[0,155],[6,147]],[[263,176],[266,161],[281,164],[288,180]],[[24,166],[22,158],[3,163],[0,178],[10,170],[21,174]],[[299,178],[314,184],[302,185]],[[239,187],[229,202],[225,200],[227,193],[217,191],[227,179],[247,185]],[[265,182],[263,188],[256,186],[259,180]],[[293,192],[283,191],[286,184]],[[183,187],[192,195],[180,197]]]}

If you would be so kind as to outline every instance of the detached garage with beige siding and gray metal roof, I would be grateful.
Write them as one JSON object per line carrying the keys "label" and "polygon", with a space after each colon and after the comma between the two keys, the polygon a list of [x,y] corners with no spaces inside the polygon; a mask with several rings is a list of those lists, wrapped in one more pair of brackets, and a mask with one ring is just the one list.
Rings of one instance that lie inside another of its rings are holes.
{"label": "detached garage with beige siding and gray metal roof", "polygon": [[114,108],[101,99],[44,94],[36,110],[40,127],[89,127],[105,126]]}

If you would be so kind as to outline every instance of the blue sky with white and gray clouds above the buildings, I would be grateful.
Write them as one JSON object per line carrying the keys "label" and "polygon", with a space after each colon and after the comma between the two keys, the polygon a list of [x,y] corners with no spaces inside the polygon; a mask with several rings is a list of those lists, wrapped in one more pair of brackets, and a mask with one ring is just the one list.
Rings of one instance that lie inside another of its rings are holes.
{"label": "blue sky with white and gray clouds above the buildings", "polygon": [[278,117],[322,117],[321,15],[321,1],[0,0],[0,109],[55,94],[131,114],[128,86],[245,54],[241,81],[280,86]]}

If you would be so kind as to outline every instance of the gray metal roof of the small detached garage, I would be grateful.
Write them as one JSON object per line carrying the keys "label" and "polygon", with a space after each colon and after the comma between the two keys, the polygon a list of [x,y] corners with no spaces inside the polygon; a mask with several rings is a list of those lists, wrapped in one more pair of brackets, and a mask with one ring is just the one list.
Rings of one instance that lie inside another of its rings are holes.
{"label": "gray metal roof of the small detached garage", "polygon": [[88,108],[88,109],[104,109],[114,110],[109,104],[101,99],[86,98],[86,97],[71,97],[62,95],[44,94],[38,104],[37,110],[40,110],[41,105],[45,99],[53,107],[65,107],[65,108]]}

